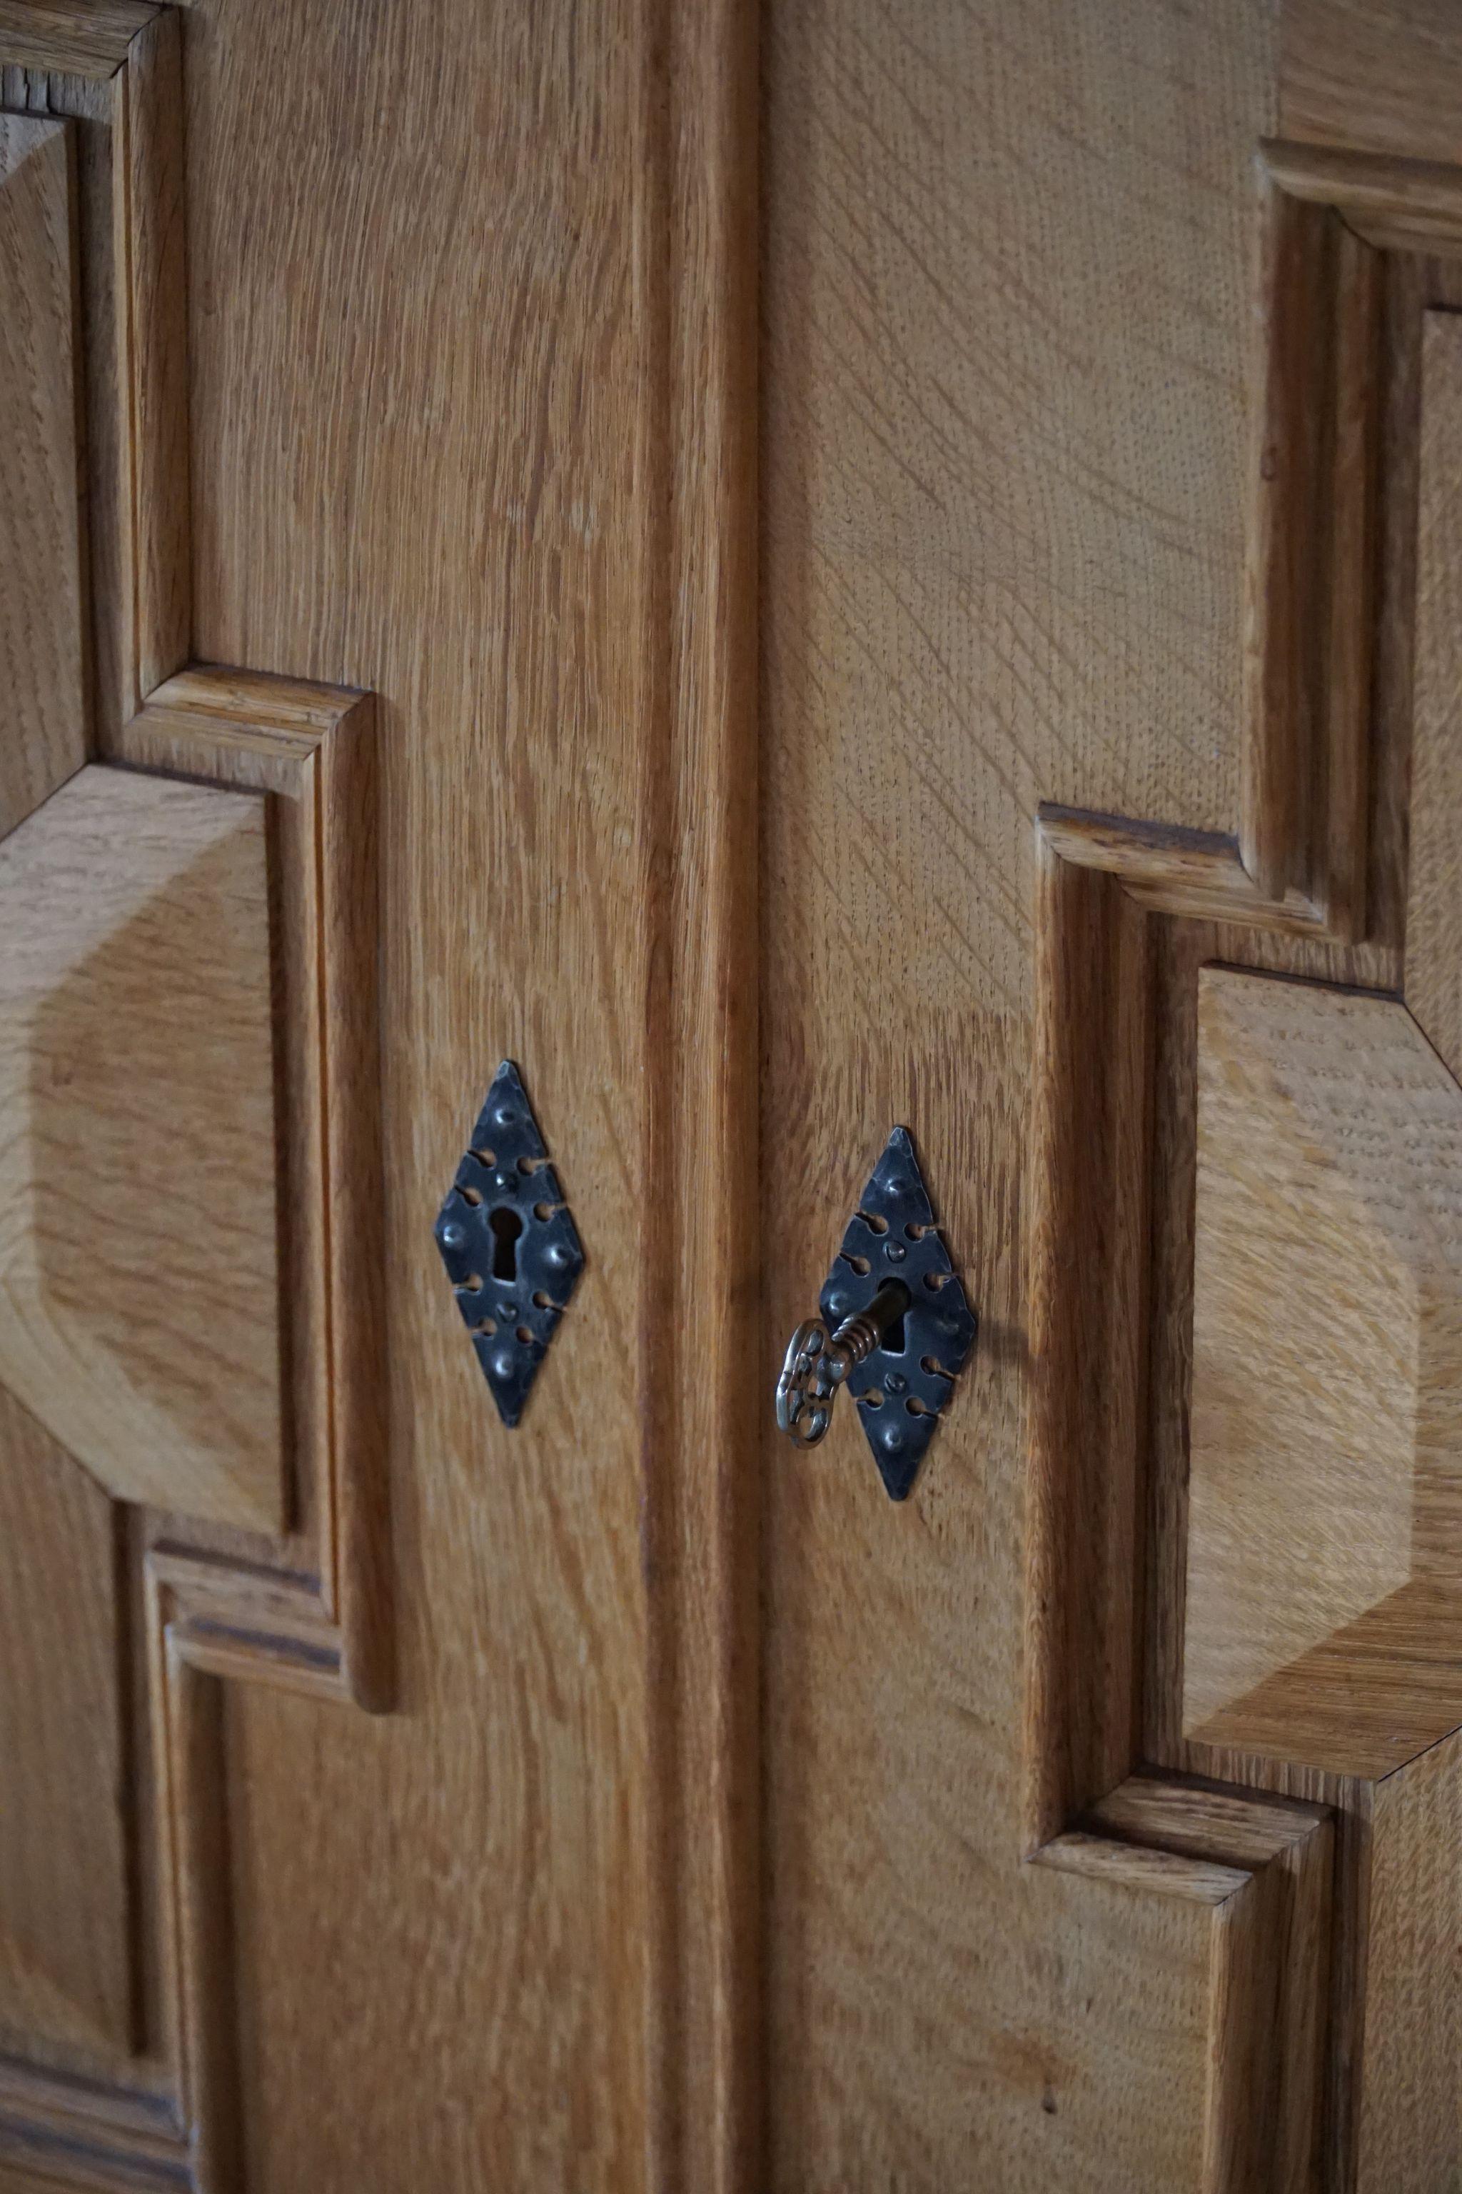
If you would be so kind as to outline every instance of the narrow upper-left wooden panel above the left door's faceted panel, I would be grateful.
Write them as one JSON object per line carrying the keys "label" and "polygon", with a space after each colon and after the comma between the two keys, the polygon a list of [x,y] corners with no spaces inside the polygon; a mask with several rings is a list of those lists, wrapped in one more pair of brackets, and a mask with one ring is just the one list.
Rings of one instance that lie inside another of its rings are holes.
{"label": "narrow upper-left wooden panel above the left door's faceted panel", "polygon": [[75,147],[0,114],[0,834],[88,746]]}

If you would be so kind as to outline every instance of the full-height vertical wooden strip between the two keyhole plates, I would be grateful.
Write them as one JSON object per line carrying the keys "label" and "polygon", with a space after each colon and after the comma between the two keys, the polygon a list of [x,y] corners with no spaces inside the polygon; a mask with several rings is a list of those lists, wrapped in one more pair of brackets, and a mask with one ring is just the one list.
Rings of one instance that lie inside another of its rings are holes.
{"label": "full-height vertical wooden strip between the two keyhole plates", "polygon": [[[647,9],[647,2183],[761,2185],[756,9]],[[710,1281],[710,1286],[708,1286]]]}

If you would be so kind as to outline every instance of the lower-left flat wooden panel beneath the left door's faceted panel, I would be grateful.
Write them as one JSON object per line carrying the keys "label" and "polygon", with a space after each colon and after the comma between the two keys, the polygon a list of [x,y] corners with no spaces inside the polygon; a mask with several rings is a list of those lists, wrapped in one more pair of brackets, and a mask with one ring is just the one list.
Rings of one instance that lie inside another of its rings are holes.
{"label": "lower-left flat wooden panel beneath the left door's faceted panel", "polygon": [[121,1584],[110,1499],[0,1391],[0,2051],[134,2040]]}

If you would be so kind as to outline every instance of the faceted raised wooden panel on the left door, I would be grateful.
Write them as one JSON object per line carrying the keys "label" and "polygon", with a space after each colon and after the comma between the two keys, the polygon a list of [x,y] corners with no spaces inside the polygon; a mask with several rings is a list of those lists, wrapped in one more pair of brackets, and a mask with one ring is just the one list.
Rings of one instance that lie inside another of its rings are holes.
{"label": "faceted raised wooden panel on the left door", "polygon": [[83,770],[0,926],[0,1384],[114,1499],[276,1527],[263,801]]}

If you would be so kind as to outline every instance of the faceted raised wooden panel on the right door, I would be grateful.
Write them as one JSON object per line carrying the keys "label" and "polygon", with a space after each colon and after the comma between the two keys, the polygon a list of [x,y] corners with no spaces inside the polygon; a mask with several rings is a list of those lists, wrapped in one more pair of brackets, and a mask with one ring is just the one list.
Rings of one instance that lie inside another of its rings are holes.
{"label": "faceted raised wooden panel on the right door", "polygon": [[1462,1093],[1394,1000],[1210,970],[1184,1724],[1387,1773],[1462,1711]]}

